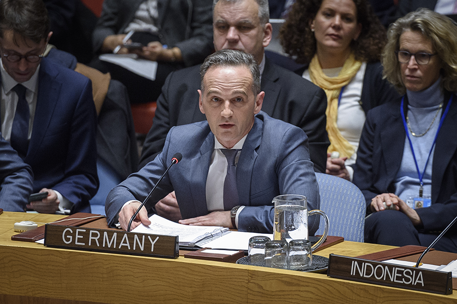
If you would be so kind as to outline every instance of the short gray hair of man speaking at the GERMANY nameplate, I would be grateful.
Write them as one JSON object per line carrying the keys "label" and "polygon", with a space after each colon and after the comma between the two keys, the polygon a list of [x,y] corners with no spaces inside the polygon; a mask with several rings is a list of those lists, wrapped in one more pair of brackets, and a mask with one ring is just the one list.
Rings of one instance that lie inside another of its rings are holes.
{"label": "short gray hair of man speaking at the GERMANY nameplate", "polygon": [[202,81],[202,92],[205,91],[203,78],[210,67],[217,66],[245,66],[252,75],[252,92],[254,96],[260,93],[260,71],[254,56],[242,51],[220,50],[206,57],[205,62],[200,66],[200,76]]}

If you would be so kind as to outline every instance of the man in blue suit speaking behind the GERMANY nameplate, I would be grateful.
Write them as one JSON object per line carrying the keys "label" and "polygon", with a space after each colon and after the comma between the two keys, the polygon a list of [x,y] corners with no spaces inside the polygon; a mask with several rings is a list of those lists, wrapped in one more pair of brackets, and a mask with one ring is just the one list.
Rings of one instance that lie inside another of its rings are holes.
{"label": "man in blue suit speaking behind the GERMANY nameplate", "polygon": [[[200,111],[207,121],[173,127],[164,149],[138,173],[111,190],[106,201],[108,224],[123,229],[172,162],[171,168],[137,215],[132,229],[149,225],[153,205],[175,191],[183,220],[189,225],[224,226],[240,231],[273,231],[272,199],[302,194],[308,209],[319,208],[319,194],[308,138],[299,127],[261,112],[257,62],[250,54],[218,51],[201,66]],[[319,226],[310,217],[313,235]]]}

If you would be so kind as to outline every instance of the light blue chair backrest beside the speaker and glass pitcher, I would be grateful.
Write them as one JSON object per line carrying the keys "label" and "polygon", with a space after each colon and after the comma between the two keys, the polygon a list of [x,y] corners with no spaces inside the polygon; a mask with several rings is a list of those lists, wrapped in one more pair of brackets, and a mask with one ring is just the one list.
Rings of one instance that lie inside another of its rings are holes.
{"label": "light blue chair backrest beside the speaker and glass pitcher", "polygon": [[[362,191],[351,182],[329,174],[316,173],[320,210],[329,217],[329,235],[345,241],[364,242],[366,203]],[[319,231],[323,231],[320,221]],[[320,233],[322,234],[322,232]]]}

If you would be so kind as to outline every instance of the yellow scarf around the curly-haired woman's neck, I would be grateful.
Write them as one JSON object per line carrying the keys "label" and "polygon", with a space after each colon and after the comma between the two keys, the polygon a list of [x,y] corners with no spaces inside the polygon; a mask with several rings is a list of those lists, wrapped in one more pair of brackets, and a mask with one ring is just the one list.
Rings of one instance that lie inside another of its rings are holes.
{"label": "yellow scarf around the curly-haired woman's neck", "polygon": [[[344,62],[343,68],[337,77],[328,77],[322,72],[320,67],[319,59],[317,55],[314,55],[313,59],[309,63],[309,76],[311,81],[321,87],[327,95],[327,133],[329,134],[330,147],[327,150],[329,153],[337,151],[340,153],[340,157],[351,157],[355,151],[355,147],[352,146],[342,135],[337,127],[338,118],[338,96],[340,95],[341,88],[347,85],[351,79],[357,74],[358,69],[362,65],[361,61],[357,61],[354,58],[354,54],[351,53],[349,58]],[[350,117],[348,117],[350,119]]]}

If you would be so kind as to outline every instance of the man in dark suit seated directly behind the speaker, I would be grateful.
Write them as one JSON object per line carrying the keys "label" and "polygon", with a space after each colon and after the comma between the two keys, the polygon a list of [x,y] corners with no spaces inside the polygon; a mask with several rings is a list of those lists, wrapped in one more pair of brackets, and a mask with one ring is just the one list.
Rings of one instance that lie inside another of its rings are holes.
{"label": "man in dark suit seated directly behind the speaker", "polygon": [[[254,56],[259,63],[260,87],[265,91],[262,110],[302,128],[309,139],[314,170],[325,172],[330,145],[325,131],[327,97],[319,87],[265,57],[264,48],[272,39],[268,1],[215,0],[213,7],[215,49],[241,50]],[[198,106],[199,69],[199,65],[188,67],[167,78],[144,142],[140,168],[162,150],[171,127],[205,120]],[[178,202],[171,193],[156,205],[157,214],[175,221],[180,219]]]}

